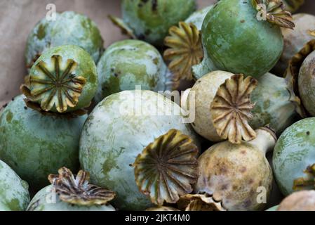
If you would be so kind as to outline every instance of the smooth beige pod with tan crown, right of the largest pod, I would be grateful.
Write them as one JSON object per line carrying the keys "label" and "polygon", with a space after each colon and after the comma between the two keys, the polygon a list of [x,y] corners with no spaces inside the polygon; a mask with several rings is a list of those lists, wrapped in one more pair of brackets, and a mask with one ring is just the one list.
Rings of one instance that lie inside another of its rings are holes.
{"label": "smooth beige pod with tan crown, right of the largest pod", "polygon": [[192,127],[204,138],[210,141],[228,139],[232,143],[241,143],[242,139],[250,141],[255,139],[255,131],[248,125],[253,116],[250,110],[254,108],[250,93],[255,86],[257,81],[251,77],[210,72],[196,81],[188,95],[182,96],[182,104],[189,107],[194,103]]}

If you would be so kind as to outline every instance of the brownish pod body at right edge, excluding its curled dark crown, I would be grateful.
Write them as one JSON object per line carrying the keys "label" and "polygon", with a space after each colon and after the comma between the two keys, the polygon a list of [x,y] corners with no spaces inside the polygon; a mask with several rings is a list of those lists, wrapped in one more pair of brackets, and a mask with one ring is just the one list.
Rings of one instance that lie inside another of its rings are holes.
{"label": "brownish pod body at right edge, excluding its curled dark crown", "polygon": [[302,63],[298,77],[298,88],[304,108],[315,116],[315,51],[309,54]]}

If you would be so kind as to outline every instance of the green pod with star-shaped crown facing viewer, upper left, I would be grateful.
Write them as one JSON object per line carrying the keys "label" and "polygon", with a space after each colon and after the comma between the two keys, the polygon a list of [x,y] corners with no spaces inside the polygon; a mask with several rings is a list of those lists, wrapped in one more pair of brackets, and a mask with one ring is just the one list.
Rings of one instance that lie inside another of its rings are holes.
{"label": "green pod with star-shaped crown facing viewer, upper left", "polygon": [[98,88],[91,56],[78,46],[49,49],[34,63],[22,93],[43,111],[69,113],[90,105]]}

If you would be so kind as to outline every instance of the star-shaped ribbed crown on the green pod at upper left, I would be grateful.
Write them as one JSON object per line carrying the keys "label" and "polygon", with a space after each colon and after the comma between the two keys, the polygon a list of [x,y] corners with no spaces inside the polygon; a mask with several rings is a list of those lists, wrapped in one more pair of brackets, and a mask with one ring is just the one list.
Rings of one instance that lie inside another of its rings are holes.
{"label": "star-shaped ribbed crown on the green pod at upper left", "polygon": [[20,88],[28,98],[27,103],[32,102],[29,106],[45,112],[55,106],[58,113],[76,106],[86,84],[86,79],[76,74],[77,65],[74,60],[58,55],[52,56],[48,62],[36,63],[34,74],[28,75]]}

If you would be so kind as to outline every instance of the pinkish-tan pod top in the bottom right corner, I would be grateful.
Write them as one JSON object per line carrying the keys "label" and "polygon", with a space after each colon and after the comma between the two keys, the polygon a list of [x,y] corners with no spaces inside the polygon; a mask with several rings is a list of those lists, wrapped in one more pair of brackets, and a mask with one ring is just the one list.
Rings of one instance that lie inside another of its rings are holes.
{"label": "pinkish-tan pod top in the bottom right corner", "polygon": [[315,211],[315,191],[297,191],[285,198],[277,211]]}

